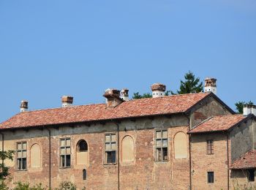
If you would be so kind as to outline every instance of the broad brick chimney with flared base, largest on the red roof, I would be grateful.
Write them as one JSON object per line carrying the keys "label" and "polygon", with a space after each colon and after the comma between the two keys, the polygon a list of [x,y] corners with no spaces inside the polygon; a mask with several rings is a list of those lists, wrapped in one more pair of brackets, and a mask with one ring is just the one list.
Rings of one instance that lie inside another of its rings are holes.
{"label": "broad brick chimney with flared base, largest on the red roof", "polygon": [[120,98],[120,91],[113,88],[105,90],[103,96],[106,98],[106,104],[108,107],[116,107],[118,104],[121,104],[121,102],[124,102],[124,99]]}

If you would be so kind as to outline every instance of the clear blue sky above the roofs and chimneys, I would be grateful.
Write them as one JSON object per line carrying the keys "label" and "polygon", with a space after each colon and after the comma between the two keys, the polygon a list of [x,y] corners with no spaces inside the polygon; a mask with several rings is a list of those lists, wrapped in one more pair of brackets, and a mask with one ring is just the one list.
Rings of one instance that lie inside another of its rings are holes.
{"label": "clear blue sky above the roofs and chimneys", "polygon": [[0,1],[0,121],[101,103],[106,88],[175,91],[191,70],[216,77],[230,107],[256,102],[255,0]]}

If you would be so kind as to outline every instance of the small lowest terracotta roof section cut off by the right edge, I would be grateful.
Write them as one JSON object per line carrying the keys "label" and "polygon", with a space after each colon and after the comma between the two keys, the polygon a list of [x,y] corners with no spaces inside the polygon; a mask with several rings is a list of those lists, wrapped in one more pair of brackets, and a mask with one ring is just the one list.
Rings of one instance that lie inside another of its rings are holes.
{"label": "small lowest terracotta roof section cut off by the right edge", "polygon": [[231,164],[230,169],[250,169],[256,168],[256,150],[244,153],[241,158]]}

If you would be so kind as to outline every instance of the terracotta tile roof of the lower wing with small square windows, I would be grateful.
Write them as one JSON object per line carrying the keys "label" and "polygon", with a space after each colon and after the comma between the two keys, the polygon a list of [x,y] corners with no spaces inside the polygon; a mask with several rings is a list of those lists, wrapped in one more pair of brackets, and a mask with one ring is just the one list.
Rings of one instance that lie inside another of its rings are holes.
{"label": "terracotta tile roof of the lower wing with small square windows", "polygon": [[244,119],[246,119],[246,116],[241,114],[214,116],[195,126],[188,134],[227,131]]}

